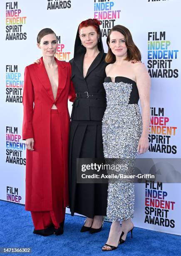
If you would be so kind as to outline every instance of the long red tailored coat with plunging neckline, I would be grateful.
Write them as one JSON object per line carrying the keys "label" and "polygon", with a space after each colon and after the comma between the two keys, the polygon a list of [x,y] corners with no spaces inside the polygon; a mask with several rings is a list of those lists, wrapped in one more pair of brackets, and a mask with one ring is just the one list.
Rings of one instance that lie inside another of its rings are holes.
{"label": "long red tailored coat with plunging neckline", "polygon": [[[52,181],[50,154],[50,111],[55,104],[60,118],[64,151],[64,207],[68,205],[68,143],[69,111],[68,98],[76,97],[71,82],[71,66],[59,61],[58,90],[54,100],[52,87],[42,58],[40,64],[25,68],[23,90],[22,139],[34,138],[34,151],[26,155],[26,197],[25,209],[29,211],[51,211]],[[56,148],[55,148],[56,150]]]}

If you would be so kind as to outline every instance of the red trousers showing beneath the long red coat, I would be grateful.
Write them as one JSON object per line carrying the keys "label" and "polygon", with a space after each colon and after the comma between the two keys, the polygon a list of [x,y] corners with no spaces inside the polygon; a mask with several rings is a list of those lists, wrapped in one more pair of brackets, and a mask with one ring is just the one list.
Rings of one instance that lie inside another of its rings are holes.
{"label": "red trousers showing beneath the long red coat", "polygon": [[64,159],[62,135],[58,110],[51,110],[51,166],[52,166],[52,211],[31,212],[35,230],[54,225],[60,227],[65,217],[64,207]]}

